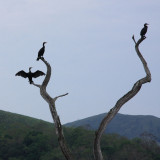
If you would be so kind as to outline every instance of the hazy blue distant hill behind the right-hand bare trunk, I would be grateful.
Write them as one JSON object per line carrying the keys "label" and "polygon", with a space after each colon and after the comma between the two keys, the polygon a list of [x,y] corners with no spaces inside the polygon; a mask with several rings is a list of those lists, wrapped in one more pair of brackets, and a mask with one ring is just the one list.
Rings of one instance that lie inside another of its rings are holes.
{"label": "hazy blue distant hill behind the right-hand bare trunk", "polygon": [[[82,126],[89,130],[96,130],[106,113],[88,117],[65,124],[68,127]],[[150,133],[160,142],[160,118],[144,115],[117,114],[110,122],[105,133],[116,133],[127,138],[139,137],[142,133]]]}

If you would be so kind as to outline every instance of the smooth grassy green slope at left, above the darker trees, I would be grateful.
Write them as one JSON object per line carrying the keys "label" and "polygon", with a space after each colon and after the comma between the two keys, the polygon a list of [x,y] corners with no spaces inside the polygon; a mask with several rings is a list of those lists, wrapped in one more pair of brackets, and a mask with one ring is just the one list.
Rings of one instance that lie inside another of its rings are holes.
{"label": "smooth grassy green slope at left, above the darker trees", "polygon": [[16,132],[17,135],[21,134],[21,131],[27,131],[27,129],[37,129],[37,130],[51,130],[53,129],[53,124],[31,118],[28,116],[23,116],[16,113],[6,112],[0,110],[0,132],[10,131],[12,133]]}

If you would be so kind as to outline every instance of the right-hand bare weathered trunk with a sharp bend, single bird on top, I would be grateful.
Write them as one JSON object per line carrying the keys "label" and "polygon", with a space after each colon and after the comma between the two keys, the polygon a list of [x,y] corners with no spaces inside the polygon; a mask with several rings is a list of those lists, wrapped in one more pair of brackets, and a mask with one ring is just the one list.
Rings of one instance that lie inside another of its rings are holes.
{"label": "right-hand bare weathered trunk with a sharp bend, single bird on top", "polygon": [[142,37],[141,39],[139,39],[138,42],[135,41],[134,36],[132,37],[132,39],[135,42],[135,50],[143,64],[146,76],[138,80],[133,85],[132,89],[117,101],[115,106],[106,114],[104,119],[101,121],[101,124],[98,130],[95,132],[95,139],[94,139],[94,158],[95,160],[103,160],[103,155],[102,155],[101,147],[100,147],[100,140],[109,122],[118,113],[122,105],[125,104],[127,101],[129,101],[131,98],[133,98],[140,91],[143,84],[151,81],[151,73],[149,71],[149,68],[147,66],[145,59],[143,58],[142,54],[139,51],[139,44],[145,39],[145,37]]}

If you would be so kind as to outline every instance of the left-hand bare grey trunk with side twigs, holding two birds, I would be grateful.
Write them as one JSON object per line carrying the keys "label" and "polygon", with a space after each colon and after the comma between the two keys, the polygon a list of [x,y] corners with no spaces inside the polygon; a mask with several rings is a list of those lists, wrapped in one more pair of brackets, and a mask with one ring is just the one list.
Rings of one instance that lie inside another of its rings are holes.
{"label": "left-hand bare grey trunk with side twigs, holding two birds", "polygon": [[34,86],[39,87],[40,88],[40,94],[43,97],[43,99],[49,104],[49,108],[50,108],[50,112],[52,115],[52,118],[54,120],[54,124],[55,124],[55,129],[56,129],[56,135],[58,136],[58,142],[61,148],[61,151],[63,152],[63,155],[65,156],[65,158],[67,160],[72,160],[72,156],[70,153],[70,150],[68,149],[66,142],[65,142],[65,138],[64,138],[64,134],[63,134],[63,129],[62,129],[62,125],[59,119],[59,116],[57,114],[56,111],[56,107],[55,107],[55,102],[59,97],[63,97],[68,95],[68,93],[57,96],[55,98],[52,98],[46,91],[46,87],[48,85],[48,82],[50,80],[51,77],[51,66],[50,64],[44,59],[41,58],[41,60],[45,63],[45,65],[47,66],[47,74],[46,77],[42,83],[42,85],[37,85],[35,83],[32,83]]}

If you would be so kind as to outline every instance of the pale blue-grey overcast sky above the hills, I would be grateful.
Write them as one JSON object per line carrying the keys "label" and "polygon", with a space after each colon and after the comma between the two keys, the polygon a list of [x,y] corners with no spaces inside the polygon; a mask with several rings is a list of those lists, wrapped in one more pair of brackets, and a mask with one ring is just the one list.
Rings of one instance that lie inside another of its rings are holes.
{"label": "pale blue-grey overcast sky above the hills", "polygon": [[[52,66],[48,92],[69,92],[56,103],[62,123],[104,113],[145,76],[131,39],[149,23],[140,50],[152,82],[120,113],[160,117],[159,0],[0,0],[0,110],[52,122],[48,104],[20,70],[46,66],[36,61],[46,41]],[[44,77],[34,79],[41,83]]]}

